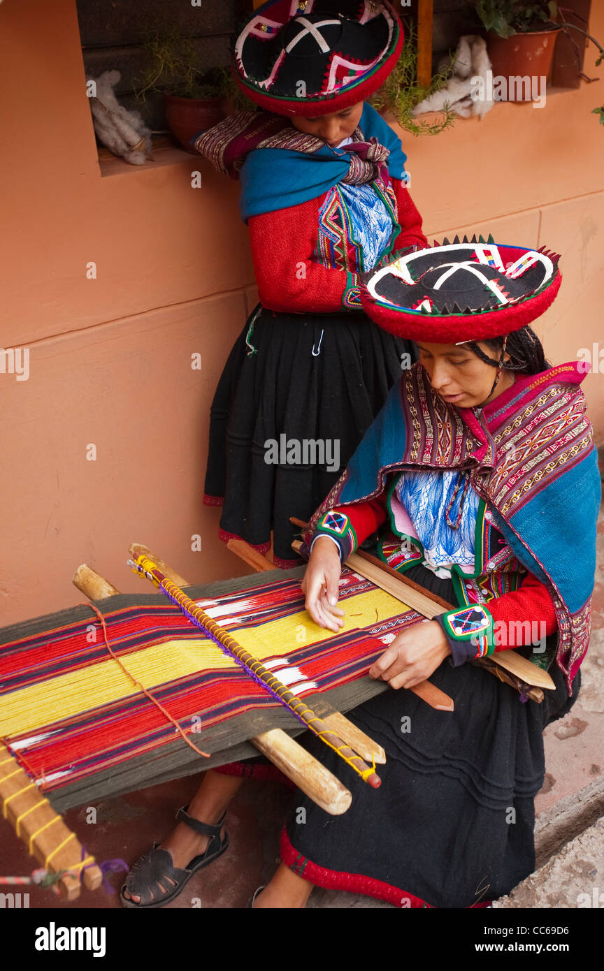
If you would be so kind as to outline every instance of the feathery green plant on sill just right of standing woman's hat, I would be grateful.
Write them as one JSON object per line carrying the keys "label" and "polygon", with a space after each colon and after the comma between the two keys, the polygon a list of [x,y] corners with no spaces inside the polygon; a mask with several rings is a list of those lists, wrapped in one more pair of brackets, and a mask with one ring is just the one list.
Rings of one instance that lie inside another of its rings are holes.
{"label": "feathery green plant on sill just right of standing woman's hat", "polygon": [[394,70],[386,79],[386,84],[373,96],[371,104],[376,111],[391,111],[401,128],[412,135],[438,135],[445,128],[451,128],[457,117],[447,103],[442,117],[437,121],[414,117],[413,111],[419,102],[446,87],[452,71],[453,58],[450,64],[433,76],[430,84],[418,84],[418,32],[415,24],[410,23],[407,41]]}

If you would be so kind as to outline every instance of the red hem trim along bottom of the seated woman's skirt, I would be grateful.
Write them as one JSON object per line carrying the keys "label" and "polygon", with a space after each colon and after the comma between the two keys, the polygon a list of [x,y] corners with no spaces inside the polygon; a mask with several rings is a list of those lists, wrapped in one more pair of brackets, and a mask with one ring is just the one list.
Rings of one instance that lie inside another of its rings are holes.
{"label": "red hem trim along bottom of the seated woman's skirt", "polygon": [[[298,877],[304,877],[316,887],[324,887],[327,890],[346,890],[347,893],[362,893],[367,897],[375,897],[376,900],[386,900],[386,903],[393,904],[400,908],[428,908],[433,910],[431,904],[416,897],[413,893],[408,893],[400,887],[391,887],[382,880],[374,880],[373,877],[365,877],[360,873],[344,873],[339,870],[326,870],[306,856],[295,850],[290,841],[285,827],[281,834],[281,858],[286,866],[289,867]],[[470,910],[483,909],[488,907],[490,900],[472,904]]]}

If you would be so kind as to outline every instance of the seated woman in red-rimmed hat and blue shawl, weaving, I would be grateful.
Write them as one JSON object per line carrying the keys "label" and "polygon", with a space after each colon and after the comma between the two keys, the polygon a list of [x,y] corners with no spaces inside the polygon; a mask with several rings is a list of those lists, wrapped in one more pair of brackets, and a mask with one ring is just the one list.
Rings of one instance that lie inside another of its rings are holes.
{"label": "seated woman in red-rimmed hat and blue shawl, weaving", "polygon": [[[255,908],[304,907],[314,885],[402,907],[471,907],[534,868],[542,732],[579,689],[600,498],[584,375],[551,367],[528,326],[559,280],[555,257],[469,243],[403,257],[364,293],[374,319],[417,342],[419,363],[309,525],[307,609],[339,629],[341,563],[376,530],[390,565],[458,606],[393,640],[369,674],[395,690],[349,713],[386,749],[382,787],[347,774],[352,807],[341,817],[297,793],[306,822],[289,821]],[[541,705],[469,663],[519,643],[550,666],[555,690]],[[453,696],[453,715],[401,690],[427,677]],[[333,767],[333,753],[308,748]],[[152,887],[134,872],[128,893],[161,906],[191,865],[218,855],[239,783],[208,772],[189,807],[205,826],[188,839],[175,831],[170,853],[153,851],[164,854],[161,879],[159,867]],[[166,869],[173,861],[185,869]]]}

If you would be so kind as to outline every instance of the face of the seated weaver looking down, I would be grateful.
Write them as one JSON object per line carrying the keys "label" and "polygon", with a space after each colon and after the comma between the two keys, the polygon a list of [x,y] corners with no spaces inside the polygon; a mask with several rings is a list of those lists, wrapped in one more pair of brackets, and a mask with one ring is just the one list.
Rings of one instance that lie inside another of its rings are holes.
{"label": "face of the seated weaver looking down", "polygon": [[[482,341],[477,343],[488,357],[498,359],[498,352]],[[416,341],[416,345],[419,361],[427,372],[430,385],[444,401],[457,408],[479,408],[488,401],[493,401],[514,384],[513,372],[504,368],[491,394],[496,368],[481,360],[463,344],[457,346]],[[505,355],[505,359],[509,360],[509,354]]]}

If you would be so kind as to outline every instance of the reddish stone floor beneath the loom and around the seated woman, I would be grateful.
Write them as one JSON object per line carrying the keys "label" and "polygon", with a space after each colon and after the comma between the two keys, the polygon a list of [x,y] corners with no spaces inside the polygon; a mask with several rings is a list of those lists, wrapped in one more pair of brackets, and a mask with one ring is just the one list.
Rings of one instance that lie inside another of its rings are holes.
{"label": "reddish stone floor beneath the loom and around the seated woman", "polygon": [[[572,800],[574,793],[580,792],[604,773],[604,516],[599,523],[598,553],[593,633],[583,665],[582,691],[572,712],[546,730],[547,776],[545,786],[536,799],[538,814],[552,813],[561,800],[568,805],[569,797]],[[96,854],[97,860],[121,857],[132,864],[151,847],[154,840],[158,841],[169,832],[175,810],[188,802],[194,789],[193,779],[181,779],[98,803],[94,824],[86,823],[84,809],[71,810],[65,819]],[[245,783],[228,814],[229,849],[211,867],[193,877],[178,899],[168,906],[245,907],[253,890],[266,883],[276,866],[279,832],[290,799],[290,792],[278,783]],[[15,839],[8,823],[1,819],[0,839],[3,872],[28,874],[32,869],[31,857]],[[601,852],[604,843],[602,827],[592,827],[586,839],[594,852]],[[560,876],[557,870],[555,873],[558,884],[563,884],[563,874]],[[120,875],[111,879],[116,887],[121,885]],[[530,891],[526,892],[528,895],[523,897],[525,901],[530,900]],[[604,899],[604,888],[602,894]],[[533,905],[549,906],[543,903],[537,890]],[[78,901],[67,904],[52,891],[33,887],[30,906],[116,908],[120,905],[117,894],[109,894],[103,889],[90,892],[84,888]],[[314,890],[309,901],[311,908],[388,906],[368,897],[321,889]],[[524,902],[514,906],[531,904]]]}

